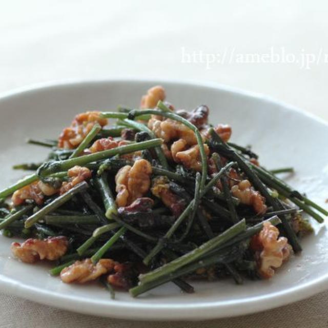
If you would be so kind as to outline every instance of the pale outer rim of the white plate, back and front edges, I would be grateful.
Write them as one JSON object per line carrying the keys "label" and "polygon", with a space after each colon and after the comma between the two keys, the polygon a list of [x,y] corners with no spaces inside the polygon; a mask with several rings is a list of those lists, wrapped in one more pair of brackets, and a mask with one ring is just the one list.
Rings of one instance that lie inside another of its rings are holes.
{"label": "pale outer rim of the white plate, back and front edges", "polygon": [[[284,103],[261,93],[241,90],[235,87],[222,85],[213,81],[198,81],[190,79],[152,79],[152,78],[104,78],[104,79],[63,79],[52,80],[46,83],[37,83],[24,87],[15,88],[0,93],[0,101],[14,97],[24,96],[28,93],[37,93],[45,89],[54,89],[58,87],[79,87],[83,85],[101,85],[113,83],[149,83],[149,84],[171,84],[204,87],[220,90],[230,94],[237,94],[265,103],[270,103],[283,107],[285,110],[297,112],[305,115],[309,119],[324,125],[328,128],[328,122],[316,115],[306,112],[298,107]],[[97,301],[95,299],[85,300],[78,296],[67,296],[56,292],[46,291],[35,288],[13,279],[3,276],[0,273],[0,290],[7,294],[23,297],[32,301],[54,306],[56,308],[70,310],[79,313],[91,315],[107,316],[121,319],[139,319],[139,320],[202,320],[222,317],[231,317],[254,312],[260,312],[277,308],[288,303],[296,302],[301,299],[313,296],[324,289],[328,289],[328,273],[315,280],[295,286],[277,293],[268,295],[243,298],[242,300],[231,301],[210,301],[201,304],[151,304],[137,303],[130,301]],[[42,299],[39,297],[42,296]],[[247,303],[247,306],[236,306]],[[174,309],[174,311],[172,311]],[[199,311],[191,311],[191,310]],[[217,312],[217,310],[220,311]],[[144,310],[144,311],[140,311]],[[147,312],[147,317],[144,313]],[[127,317],[128,314],[128,317]]]}

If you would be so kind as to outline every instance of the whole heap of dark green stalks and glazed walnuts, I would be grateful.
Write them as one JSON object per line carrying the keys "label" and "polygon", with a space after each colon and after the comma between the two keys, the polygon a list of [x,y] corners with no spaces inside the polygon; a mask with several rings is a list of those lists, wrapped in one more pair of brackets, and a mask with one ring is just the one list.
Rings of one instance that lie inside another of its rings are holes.
{"label": "whole heap of dark green stalks and glazed walnuts", "polygon": [[139,109],[75,116],[34,173],[0,192],[3,236],[26,263],[54,261],[65,283],[99,280],[138,296],[192,279],[268,279],[328,212],[267,170],[232,128],[155,86]]}

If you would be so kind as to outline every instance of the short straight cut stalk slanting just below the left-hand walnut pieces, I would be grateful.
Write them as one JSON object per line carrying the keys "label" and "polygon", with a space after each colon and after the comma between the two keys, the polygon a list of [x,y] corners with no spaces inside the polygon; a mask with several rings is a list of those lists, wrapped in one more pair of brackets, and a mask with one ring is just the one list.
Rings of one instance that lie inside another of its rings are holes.
{"label": "short straight cut stalk slanting just below the left-hand walnut pieces", "polygon": [[83,181],[81,183],[78,183],[78,185],[74,186],[72,189],[70,189],[67,193],[58,196],[56,199],[54,199],[51,203],[31,215],[26,221],[25,221],[25,228],[30,228],[33,226],[35,222],[42,219],[45,215],[48,213],[54,211],[64,203],[66,203],[68,200],[70,200],[74,195],[77,193],[86,190],[88,188],[88,183]]}

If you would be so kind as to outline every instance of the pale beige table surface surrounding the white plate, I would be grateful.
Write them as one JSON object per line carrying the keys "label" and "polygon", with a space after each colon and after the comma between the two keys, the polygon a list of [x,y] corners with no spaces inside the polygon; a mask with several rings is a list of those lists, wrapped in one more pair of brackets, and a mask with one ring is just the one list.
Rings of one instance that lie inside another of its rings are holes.
{"label": "pale beige table surface surrounding the white plate", "polygon": [[[192,3],[3,2],[0,93],[71,78],[209,80],[271,95],[328,120],[328,3],[277,0]],[[183,63],[193,52],[198,57],[190,58],[192,63]],[[216,62],[206,63],[206,58],[215,58]],[[309,61],[302,67],[304,58]],[[327,305],[325,292],[255,315],[201,323],[156,323],[156,326],[328,327]],[[2,294],[0,309],[0,327],[148,324],[83,316]]]}

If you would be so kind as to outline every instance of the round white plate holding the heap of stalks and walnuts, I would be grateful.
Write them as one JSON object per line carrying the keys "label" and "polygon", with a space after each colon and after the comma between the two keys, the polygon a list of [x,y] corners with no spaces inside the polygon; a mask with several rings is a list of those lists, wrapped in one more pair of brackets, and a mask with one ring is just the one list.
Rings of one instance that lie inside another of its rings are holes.
{"label": "round white plate holding the heap of stalks and walnuts", "polygon": [[[90,81],[20,90],[0,98],[0,188],[22,172],[13,163],[43,159],[46,150],[27,146],[27,137],[56,137],[72,117],[85,110],[137,106],[140,96],[158,81]],[[253,145],[268,168],[293,166],[289,182],[325,208],[328,198],[328,126],[319,119],[267,97],[217,85],[163,82],[168,100],[193,109],[207,104],[211,121],[229,123],[232,140]],[[81,313],[125,319],[209,319],[274,308],[323,291],[328,286],[326,227],[314,222],[315,235],[303,240],[303,252],[271,280],[193,282],[194,294],[172,283],[136,299],[117,293],[111,300],[98,285],[70,285],[48,274],[45,265],[10,257],[12,239],[0,236],[0,289],[36,302]]]}

